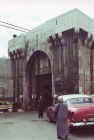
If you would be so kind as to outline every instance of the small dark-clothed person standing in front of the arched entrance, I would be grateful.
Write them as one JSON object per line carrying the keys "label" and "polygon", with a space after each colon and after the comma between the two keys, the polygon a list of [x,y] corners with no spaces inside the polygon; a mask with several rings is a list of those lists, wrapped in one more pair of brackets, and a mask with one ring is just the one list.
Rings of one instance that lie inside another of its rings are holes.
{"label": "small dark-clothed person standing in front of the arched entrance", "polygon": [[43,118],[44,113],[44,105],[43,105],[43,98],[40,96],[39,105],[38,105],[38,117]]}

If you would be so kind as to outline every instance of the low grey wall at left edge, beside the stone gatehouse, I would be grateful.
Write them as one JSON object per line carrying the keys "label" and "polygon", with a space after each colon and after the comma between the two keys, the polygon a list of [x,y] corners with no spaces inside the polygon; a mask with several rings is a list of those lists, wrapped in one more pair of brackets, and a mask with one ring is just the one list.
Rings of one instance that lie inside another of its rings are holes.
{"label": "low grey wall at left edge, beside the stone gatehouse", "polygon": [[8,58],[0,58],[0,100],[13,100],[13,77]]}

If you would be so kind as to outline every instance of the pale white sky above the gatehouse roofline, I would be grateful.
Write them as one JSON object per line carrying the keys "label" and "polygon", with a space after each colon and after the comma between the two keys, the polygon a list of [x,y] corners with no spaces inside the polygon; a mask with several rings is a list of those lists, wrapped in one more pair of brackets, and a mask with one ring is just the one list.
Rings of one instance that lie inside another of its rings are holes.
{"label": "pale white sky above the gatehouse roofline", "polygon": [[[74,8],[94,19],[94,0],[3,0],[0,2],[0,21],[32,30]],[[13,34],[22,32],[0,26],[0,57],[8,56],[8,41]]]}

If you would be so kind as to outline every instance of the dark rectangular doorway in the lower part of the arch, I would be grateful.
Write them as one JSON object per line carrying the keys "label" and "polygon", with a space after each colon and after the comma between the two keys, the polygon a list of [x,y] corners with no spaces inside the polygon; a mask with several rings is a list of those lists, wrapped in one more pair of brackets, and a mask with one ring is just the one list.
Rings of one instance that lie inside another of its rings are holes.
{"label": "dark rectangular doorway in the lower part of the arch", "polygon": [[42,96],[45,108],[52,104],[52,75],[44,74],[36,76],[38,97]]}

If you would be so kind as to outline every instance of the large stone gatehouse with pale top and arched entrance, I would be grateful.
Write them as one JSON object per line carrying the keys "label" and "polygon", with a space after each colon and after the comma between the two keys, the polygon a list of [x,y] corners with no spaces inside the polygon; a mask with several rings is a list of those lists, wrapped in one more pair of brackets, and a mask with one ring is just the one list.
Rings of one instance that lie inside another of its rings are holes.
{"label": "large stone gatehouse with pale top and arched entrance", "polygon": [[93,94],[94,20],[74,9],[14,36],[8,53],[13,74],[13,97],[24,106],[54,94]]}

